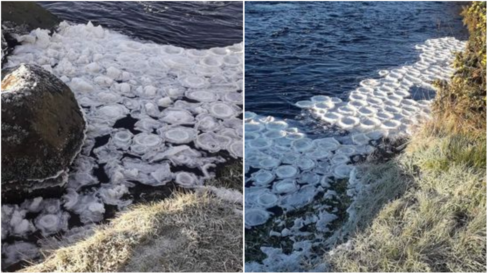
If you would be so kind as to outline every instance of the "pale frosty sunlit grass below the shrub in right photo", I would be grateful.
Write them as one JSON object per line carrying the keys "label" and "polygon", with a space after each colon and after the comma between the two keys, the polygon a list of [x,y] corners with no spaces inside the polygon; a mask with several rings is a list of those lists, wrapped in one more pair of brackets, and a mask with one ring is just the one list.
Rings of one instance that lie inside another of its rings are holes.
{"label": "pale frosty sunlit grass below the shrub in right photo", "polygon": [[391,191],[398,170],[413,181],[383,207],[376,195],[363,195],[368,210],[381,210],[371,221],[358,214],[370,225],[326,256],[333,271],[486,272],[486,135],[446,128],[433,121],[391,160],[398,163],[391,172],[369,170],[394,183]]}

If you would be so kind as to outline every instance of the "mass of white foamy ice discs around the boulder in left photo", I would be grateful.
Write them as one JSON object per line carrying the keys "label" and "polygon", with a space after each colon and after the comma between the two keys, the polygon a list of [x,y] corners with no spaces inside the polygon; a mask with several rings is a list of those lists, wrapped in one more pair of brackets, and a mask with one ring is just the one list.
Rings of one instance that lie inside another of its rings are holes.
{"label": "mass of white foamy ice discs around the boulder in left photo", "polygon": [[[243,157],[242,43],[183,49],[91,22],[61,22],[52,35],[37,29],[16,38],[21,45],[6,67],[36,64],[58,76],[81,105],[87,133],[61,199],[2,206],[2,240],[66,231],[70,214],[84,224],[101,221],[105,205],[131,203],[135,182],[201,186],[216,164]],[[133,128],[115,127],[123,119],[135,121]],[[100,167],[108,182],[95,176]],[[5,245],[5,262],[15,261]]]}

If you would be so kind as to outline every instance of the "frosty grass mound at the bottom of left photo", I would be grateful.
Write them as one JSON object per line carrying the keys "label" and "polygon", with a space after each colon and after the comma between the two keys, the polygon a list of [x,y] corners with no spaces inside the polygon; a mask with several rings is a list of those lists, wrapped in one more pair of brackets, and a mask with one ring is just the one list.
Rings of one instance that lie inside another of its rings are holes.
{"label": "frosty grass mound at the bottom of left photo", "polygon": [[242,272],[242,215],[208,193],[137,205],[22,272]]}

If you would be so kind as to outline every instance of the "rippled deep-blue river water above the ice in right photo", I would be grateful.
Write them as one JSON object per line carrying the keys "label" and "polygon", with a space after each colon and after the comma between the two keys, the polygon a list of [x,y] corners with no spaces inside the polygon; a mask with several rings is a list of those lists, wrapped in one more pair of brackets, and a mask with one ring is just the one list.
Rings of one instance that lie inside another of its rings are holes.
{"label": "rippled deep-blue river water above the ice in right photo", "polygon": [[457,2],[245,2],[245,110],[291,118],[296,101],[344,98],[413,63],[429,38],[465,40]]}

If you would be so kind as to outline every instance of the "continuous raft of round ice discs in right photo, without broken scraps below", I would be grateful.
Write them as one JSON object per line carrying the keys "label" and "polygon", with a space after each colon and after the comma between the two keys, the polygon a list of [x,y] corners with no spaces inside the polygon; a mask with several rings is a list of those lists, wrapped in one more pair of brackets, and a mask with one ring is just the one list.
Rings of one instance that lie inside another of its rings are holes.
{"label": "continuous raft of round ice discs in right photo, without broken scraps below", "polygon": [[350,132],[346,138],[341,137],[347,144],[334,137],[312,140],[290,130],[286,121],[246,111],[245,149],[246,155],[249,150],[249,157],[245,164],[258,169],[249,178],[250,188],[271,185],[274,191],[285,195],[283,202],[289,199],[287,193],[301,188],[295,179],[305,172],[347,178],[352,157],[371,153],[372,141],[408,135],[411,127],[428,119],[429,100],[414,100],[410,96],[418,87],[432,88],[426,75],[448,79],[453,72],[449,68],[453,52],[463,47],[464,42],[454,38],[427,40],[417,47],[422,51],[418,62],[380,71],[381,78],[361,81],[360,87],[351,91],[349,101],[315,95],[296,103],[318,121]]}

